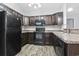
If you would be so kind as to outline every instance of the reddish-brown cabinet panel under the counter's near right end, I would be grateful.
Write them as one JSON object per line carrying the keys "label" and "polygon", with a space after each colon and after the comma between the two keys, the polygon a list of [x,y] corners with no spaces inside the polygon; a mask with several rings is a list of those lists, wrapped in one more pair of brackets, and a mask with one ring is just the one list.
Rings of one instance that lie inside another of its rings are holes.
{"label": "reddish-brown cabinet panel under the counter's near right end", "polygon": [[66,56],[79,56],[79,44],[65,44]]}

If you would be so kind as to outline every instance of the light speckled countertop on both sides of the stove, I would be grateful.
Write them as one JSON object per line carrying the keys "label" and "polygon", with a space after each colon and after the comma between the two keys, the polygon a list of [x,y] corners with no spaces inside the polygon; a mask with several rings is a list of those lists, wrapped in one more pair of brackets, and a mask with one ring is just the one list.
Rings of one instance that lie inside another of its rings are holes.
{"label": "light speckled countertop on both sides of the stove", "polygon": [[[23,31],[25,32],[34,32],[32,30],[30,31]],[[64,41],[67,44],[79,44],[79,34],[71,34],[71,33],[64,33],[61,30],[53,30],[53,31],[45,31],[46,33],[54,33],[56,36],[58,36],[62,41]]]}

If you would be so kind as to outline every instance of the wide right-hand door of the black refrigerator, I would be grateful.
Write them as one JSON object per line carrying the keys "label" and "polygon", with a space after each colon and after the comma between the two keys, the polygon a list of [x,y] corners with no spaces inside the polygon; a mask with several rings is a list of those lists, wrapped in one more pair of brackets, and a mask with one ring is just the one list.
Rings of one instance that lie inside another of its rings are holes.
{"label": "wide right-hand door of the black refrigerator", "polygon": [[16,55],[21,50],[21,25],[15,16],[7,18],[6,51],[8,56]]}

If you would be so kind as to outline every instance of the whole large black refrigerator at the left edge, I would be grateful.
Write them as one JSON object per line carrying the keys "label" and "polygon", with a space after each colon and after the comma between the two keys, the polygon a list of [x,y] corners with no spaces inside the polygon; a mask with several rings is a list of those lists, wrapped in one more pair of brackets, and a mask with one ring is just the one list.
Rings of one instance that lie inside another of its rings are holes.
{"label": "whole large black refrigerator at the left edge", "polygon": [[14,56],[21,50],[21,20],[0,11],[0,56]]}

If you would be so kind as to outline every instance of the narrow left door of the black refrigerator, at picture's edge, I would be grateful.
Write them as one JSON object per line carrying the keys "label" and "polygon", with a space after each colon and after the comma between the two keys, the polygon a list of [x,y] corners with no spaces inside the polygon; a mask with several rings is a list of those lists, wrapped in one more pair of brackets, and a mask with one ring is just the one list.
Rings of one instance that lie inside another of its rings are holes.
{"label": "narrow left door of the black refrigerator, at picture's edge", "polygon": [[0,56],[5,55],[5,12],[0,11]]}

